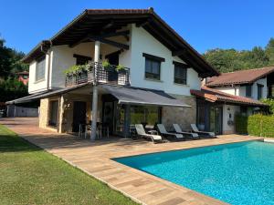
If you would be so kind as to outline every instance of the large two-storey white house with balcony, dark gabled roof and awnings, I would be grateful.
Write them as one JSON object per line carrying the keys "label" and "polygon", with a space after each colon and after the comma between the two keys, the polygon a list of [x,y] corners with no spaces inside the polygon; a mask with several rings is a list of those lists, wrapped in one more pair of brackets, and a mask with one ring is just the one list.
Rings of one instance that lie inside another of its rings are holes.
{"label": "large two-storey white house with balcony, dark gabled roof and awnings", "polygon": [[39,127],[78,132],[91,123],[92,139],[103,127],[128,137],[137,123],[189,129],[191,90],[219,75],[153,8],[85,10],[23,61],[31,95],[8,103],[40,100]]}

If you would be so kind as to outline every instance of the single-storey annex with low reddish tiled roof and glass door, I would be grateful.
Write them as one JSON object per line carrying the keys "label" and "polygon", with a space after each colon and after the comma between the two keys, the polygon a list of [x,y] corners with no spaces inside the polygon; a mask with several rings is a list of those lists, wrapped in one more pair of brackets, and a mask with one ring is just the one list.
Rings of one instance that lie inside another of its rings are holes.
{"label": "single-storey annex with low reddish tiled roof and glass door", "polygon": [[197,127],[219,134],[235,133],[236,114],[248,116],[254,109],[266,106],[256,99],[227,94],[209,87],[191,90],[191,93],[197,97]]}

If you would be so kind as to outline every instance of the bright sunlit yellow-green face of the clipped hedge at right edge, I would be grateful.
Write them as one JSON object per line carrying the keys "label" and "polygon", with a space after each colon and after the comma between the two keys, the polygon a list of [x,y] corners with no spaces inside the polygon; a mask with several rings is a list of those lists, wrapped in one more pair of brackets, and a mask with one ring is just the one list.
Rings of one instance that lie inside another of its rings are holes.
{"label": "bright sunlit yellow-green face of the clipped hedge at right edge", "polygon": [[274,138],[274,115],[256,114],[248,117],[248,134]]}

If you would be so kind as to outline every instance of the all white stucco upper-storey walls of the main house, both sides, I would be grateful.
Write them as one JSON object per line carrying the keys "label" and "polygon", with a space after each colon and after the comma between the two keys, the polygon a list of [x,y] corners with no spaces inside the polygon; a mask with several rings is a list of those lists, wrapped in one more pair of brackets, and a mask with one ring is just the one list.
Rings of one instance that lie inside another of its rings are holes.
{"label": "all white stucco upper-storey walls of the main house, both sides", "polygon": [[[174,84],[174,64],[173,61],[182,62],[183,60],[176,56],[172,56],[172,52],[142,27],[134,25],[128,26],[131,30],[130,41],[125,42],[123,37],[114,37],[112,40],[126,43],[130,46],[129,50],[124,50],[119,56],[119,63],[124,67],[131,68],[131,85],[132,87],[146,87],[153,89],[164,90],[170,94],[190,96],[190,89],[200,89],[200,77],[193,68],[187,69],[187,85]],[[101,44],[100,55],[104,59],[105,55],[111,54],[117,50],[117,47]],[[161,80],[154,81],[145,79],[145,57],[142,53],[153,56],[160,56],[165,59],[161,64]],[[94,56],[94,42],[82,43],[73,48],[68,45],[52,46],[50,51],[50,70],[49,70],[49,89],[56,89],[65,87],[64,70],[76,64],[74,54],[82,56]],[[35,83],[35,67],[36,62],[30,66],[30,81],[29,91],[35,92],[37,90],[47,88],[47,64],[48,55],[46,58],[46,72],[45,80],[43,82]]]}

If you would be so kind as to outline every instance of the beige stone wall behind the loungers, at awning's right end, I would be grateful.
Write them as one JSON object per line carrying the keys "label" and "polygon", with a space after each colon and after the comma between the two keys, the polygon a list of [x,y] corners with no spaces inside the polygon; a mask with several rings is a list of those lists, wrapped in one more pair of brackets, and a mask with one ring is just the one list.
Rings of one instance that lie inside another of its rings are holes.
{"label": "beige stone wall behind the loungers, at awning's right end", "polygon": [[182,99],[191,108],[164,107],[162,109],[162,122],[167,129],[172,129],[172,124],[179,124],[183,129],[190,129],[190,124],[196,123],[196,99],[192,96],[172,95]]}

